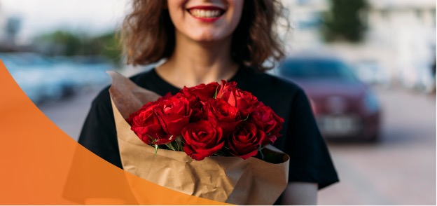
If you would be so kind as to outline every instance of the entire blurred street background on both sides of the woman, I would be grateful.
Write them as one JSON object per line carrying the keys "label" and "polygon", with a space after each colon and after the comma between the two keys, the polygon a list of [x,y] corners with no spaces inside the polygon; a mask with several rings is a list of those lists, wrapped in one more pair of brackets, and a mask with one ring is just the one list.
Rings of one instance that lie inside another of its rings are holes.
{"label": "entire blurred street background on both sides of the woman", "polygon": [[[436,1],[282,2],[288,57],[269,72],[307,92],[340,177],[319,204],[436,205]],[[123,64],[127,3],[0,0],[0,59],[76,140],[104,71],[152,67]]]}

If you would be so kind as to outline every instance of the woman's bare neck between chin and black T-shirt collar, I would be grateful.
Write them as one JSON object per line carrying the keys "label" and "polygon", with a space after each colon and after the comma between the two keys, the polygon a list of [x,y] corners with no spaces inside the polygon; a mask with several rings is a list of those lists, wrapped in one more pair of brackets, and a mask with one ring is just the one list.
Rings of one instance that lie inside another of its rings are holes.
{"label": "woman's bare neck between chin and black T-shirt collar", "polygon": [[231,41],[229,37],[223,41],[198,42],[176,34],[172,56],[156,71],[178,88],[228,80],[238,69],[230,56]]}

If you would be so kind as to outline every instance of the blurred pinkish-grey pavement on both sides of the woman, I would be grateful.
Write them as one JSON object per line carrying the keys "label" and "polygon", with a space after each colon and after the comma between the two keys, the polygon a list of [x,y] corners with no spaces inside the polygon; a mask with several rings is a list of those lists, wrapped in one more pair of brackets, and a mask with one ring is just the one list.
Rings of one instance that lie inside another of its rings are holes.
{"label": "blurred pinkish-grey pavement on both sides of the woman", "polygon": [[[77,139],[96,90],[41,105]],[[436,205],[436,99],[401,89],[377,90],[380,142],[329,142],[340,183],[319,192],[320,205]]]}

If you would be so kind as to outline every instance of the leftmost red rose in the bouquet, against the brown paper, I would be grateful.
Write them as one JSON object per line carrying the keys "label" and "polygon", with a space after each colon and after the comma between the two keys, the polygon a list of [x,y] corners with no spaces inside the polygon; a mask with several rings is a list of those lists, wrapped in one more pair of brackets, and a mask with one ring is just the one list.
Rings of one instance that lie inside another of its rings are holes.
{"label": "leftmost red rose in the bouquet, against the brown paper", "polygon": [[139,111],[131,114],[127,122],[131,125],[131,130],[146,144],[172,142],[174,138],[162,129],[158,116],[153,111],[158,105],[153,104],[150,102],[150,104],[146,104],[148,107],[142,107]]}

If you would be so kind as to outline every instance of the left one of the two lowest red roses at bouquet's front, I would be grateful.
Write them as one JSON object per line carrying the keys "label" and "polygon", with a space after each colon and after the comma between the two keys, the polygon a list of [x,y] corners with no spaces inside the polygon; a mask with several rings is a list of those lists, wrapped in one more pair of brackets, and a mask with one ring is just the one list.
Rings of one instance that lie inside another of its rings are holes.
{"label": "left one of the two lowest red roses at bouquet's front", "polygon": [[183,151],[195,160],[203,160],[219,151],[224,145],[223,132],[214,122],[190,123],[182,130],[185,140]]}

